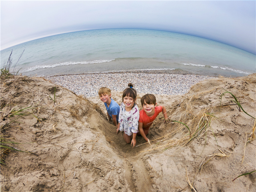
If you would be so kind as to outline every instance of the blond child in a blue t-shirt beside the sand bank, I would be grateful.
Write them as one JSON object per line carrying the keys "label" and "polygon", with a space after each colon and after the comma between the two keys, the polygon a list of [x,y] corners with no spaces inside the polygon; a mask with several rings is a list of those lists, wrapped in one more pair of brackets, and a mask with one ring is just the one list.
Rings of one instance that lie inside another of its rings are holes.
{"label": "blond child in a blue t-shirt beside the sand bank", "polygon": [[112,121],[113,119],[113,123],[117,127],[120,107],[116,101],[111,99],[111,90],[107,87],[101,87],[99,90],[99,96],[107,109],[108,121]]}

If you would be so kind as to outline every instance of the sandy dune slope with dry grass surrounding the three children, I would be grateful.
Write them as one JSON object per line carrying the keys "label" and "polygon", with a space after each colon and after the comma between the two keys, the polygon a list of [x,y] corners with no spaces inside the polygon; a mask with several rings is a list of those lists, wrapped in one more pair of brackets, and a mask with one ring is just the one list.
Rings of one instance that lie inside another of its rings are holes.
{"label": "sandy dune slope with dry grass surrounding the three children", "polygon": [[[39,77],[1,77],[1,145],[26,151],[1,148],[1,190],[190,191],[188,174],[196,191],[255,191],[256,172],[232,181],[256,170],[255,140],[245,148],[255,85],[256,74],[219,77],[186,95],[156,95],[173,122],[159,115],[151,145],[137,136],[131,148],[98,97],[87,100]],[[120,104],[121,92],[112,98]]]}

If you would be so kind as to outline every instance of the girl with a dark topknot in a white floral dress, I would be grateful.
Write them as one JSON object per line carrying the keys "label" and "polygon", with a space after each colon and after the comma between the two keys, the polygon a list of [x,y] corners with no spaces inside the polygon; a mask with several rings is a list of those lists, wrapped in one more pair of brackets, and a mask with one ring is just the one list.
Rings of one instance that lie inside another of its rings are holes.
{"label": "girl with a dark topknot in a white floral dress", "polygon": [[[128,84],[123,92],[123,102],[120,105],[120,113],[116,133],[124,131],[124,141],[130,143],[133,147],[136,144],[136,135],[138,130],[138,120],[140,117],[138,105],[135,103],[137,92]],[[132,148],[133,148],[132,147]]]}

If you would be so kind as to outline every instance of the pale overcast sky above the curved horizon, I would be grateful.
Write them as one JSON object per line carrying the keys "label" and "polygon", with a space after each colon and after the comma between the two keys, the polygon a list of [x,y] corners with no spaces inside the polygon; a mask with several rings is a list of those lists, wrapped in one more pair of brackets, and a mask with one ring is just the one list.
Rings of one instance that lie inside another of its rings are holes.
{"label": "pale overcast sky above the curved horizon", "polygon": [[1,50],[61,33],[143,28],[185,33],[255,54],[256,1],[4,1]]}

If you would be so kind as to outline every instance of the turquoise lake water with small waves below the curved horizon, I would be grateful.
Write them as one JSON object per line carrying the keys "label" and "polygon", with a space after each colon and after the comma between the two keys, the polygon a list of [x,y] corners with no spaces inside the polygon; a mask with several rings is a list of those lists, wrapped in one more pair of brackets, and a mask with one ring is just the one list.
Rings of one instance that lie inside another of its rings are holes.
{"label": "turquoise lake water with small waves below the curved horizon", "polygon": [[53,76],[127,70],[182,69],[202,75],[247,76],[256,55],[205,38],[147,29],[99,29],[44,37],[1,51],[12,52],[22,75]]}

